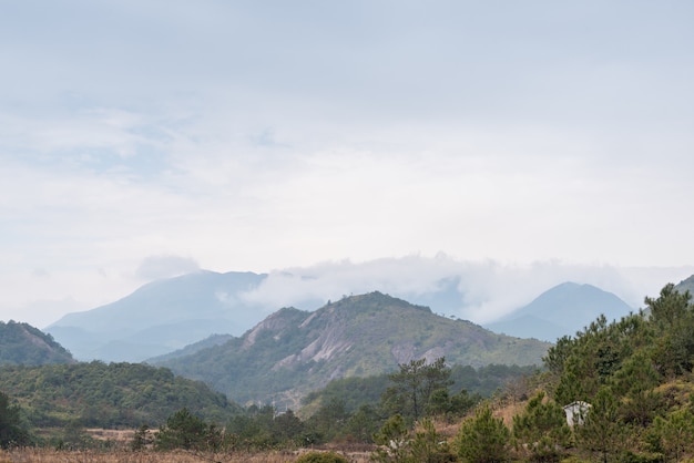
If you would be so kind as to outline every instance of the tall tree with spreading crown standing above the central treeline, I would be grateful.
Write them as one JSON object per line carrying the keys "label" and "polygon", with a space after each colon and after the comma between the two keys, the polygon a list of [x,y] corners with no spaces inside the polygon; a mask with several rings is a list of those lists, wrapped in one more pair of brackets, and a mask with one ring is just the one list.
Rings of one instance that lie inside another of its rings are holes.
{"label": "tall tree with spreading crown standing above the central treeline", "polygon": [[430,364],[427,359],[419,359],[398,367],[400,370],[388,377],[394,385],[381,401],[386,409],[417,421],[426,414],[432,394],[451,385],[450,368],[443,357]]}

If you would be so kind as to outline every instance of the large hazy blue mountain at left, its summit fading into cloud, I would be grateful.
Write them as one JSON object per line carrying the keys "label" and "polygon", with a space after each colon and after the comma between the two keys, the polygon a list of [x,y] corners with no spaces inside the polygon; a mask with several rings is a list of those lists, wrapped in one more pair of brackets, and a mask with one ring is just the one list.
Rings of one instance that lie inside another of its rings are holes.
{"label": "large hazy blue mountain at left, its summit fading into cloud", "polygon": [[80,360],[142,361],[258,320],[243,292],[265,275],[198,271],[147,284],[115,302],[68,313],[47,328]]}

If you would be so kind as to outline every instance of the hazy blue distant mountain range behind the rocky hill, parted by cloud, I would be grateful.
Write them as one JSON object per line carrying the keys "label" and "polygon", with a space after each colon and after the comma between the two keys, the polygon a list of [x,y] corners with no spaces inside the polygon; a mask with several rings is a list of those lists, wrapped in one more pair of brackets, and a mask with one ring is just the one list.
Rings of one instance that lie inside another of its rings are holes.
{"label": "hazy blue distant mountain range behind the rocky hill, parted by cloud", "polygon": [[[242,336],[283,307],[280,297],[276,298],[278,302],[261,302],[249,297],[266,280],[265,274],[205,270],[162,279],[144,285],[112,303],[68,313],[47,327],[45,331],[79,360],[139,362],[182,349],[211,335]],[[459,284],[451,278],[439,281],[431,290],[418,292],[416,297],[394,296],[428,306],[437,313],[451,313],[463,303],[465,295],[460,294]],[[605,310],[603,300],[593,298],[592,291],[565,289],[559,292],[570,294],[551,298],[553,311],[528,309],[529,313],[524,313],[522,320],[520,316],[508,318],[506,321],[519,319],[510,326],[489,323],[487,327],[508,335],[553,341],[559,333],[574,333],[590,323],[595,318],[594,310]],[[581,298],[588,300],[582,301]],[[616,296],[612,295],[612,299]],[[307,300],[292,306],[314,310],[323,303],[325,301]],[[605,307],[610,309],[612,306]],[[618,309],[622,310],[621,315],[629,312],[625,302],[621,307]],[[560,323],[552,319],[552,313],[569,312],[571,317],[560,317]],[[519,331],[519,327],[525,329]]]}

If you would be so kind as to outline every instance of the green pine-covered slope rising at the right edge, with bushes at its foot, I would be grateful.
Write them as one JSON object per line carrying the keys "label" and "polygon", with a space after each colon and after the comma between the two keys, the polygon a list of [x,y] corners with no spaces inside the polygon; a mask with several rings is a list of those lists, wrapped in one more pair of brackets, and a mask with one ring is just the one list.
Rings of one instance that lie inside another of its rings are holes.
{"label": "green pine-covered slope rising at the right edge, with bushes at its foot", "polygon": [[[614,322],[600,317],[575,337],[561,338],[544,359],[548,371],[537,379],[539,394],[513,416],[512,426],[506,429],[481,410],[463,423],[459,434],[463,443],[479,449],[481,444],[468,438],[487,423],[493,424],[492,433],[501,442],[494,447],[500,457],[559,461],[573,454],[604,462],[694,457],[691,295],[667,285],[645,305],[640,313]],[[574,412],[572,429],[567,428],[562,410],[567,407]]]}

